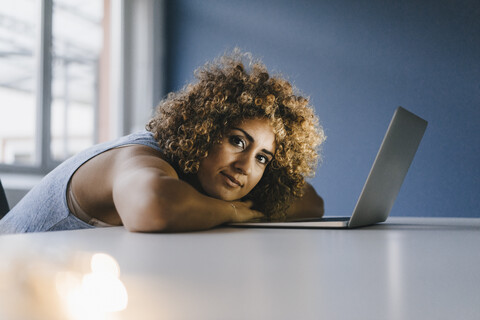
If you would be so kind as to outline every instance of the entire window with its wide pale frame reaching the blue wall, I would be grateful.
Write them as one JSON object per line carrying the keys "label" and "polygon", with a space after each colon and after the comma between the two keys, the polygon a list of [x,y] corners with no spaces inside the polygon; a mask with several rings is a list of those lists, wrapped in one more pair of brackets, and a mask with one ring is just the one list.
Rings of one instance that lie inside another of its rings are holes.
{"label": "entire window with its wide pale frame reaching the blue wall", "polygon": [[164,0],[0,1],[0,174],[140,130],[164,92]]}

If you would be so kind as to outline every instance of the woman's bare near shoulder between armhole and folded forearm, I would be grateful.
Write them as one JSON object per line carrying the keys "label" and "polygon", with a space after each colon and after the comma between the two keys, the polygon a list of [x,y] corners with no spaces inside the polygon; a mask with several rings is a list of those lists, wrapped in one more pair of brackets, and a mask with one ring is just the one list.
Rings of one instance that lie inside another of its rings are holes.
{"label": "woman's bare near shoulder between armhole and folded forearm", "polygon": [[[92,217],[120,225],[114,189],[127,197],[149,188],[162,177],[178,179],[175,169],[155,149],[126,145],[105,151],[85,162],[72,176],[72,189],[80,207]],[[118,188],[120,186],[120,188]]]}

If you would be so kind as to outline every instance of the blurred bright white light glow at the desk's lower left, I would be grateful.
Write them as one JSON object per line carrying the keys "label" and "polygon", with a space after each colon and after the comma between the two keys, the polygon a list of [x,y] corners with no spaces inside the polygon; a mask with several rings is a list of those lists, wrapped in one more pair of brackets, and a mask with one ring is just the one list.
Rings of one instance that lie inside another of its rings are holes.
{"label": "blurred bright white light glow at the desk's lower left", "polygon": [[128,294],[118,278],[117,261],[103,253],[91,258],[91,273],[61,272],[56,288],[72,319],[106,319],[111,312],[127,307]]}

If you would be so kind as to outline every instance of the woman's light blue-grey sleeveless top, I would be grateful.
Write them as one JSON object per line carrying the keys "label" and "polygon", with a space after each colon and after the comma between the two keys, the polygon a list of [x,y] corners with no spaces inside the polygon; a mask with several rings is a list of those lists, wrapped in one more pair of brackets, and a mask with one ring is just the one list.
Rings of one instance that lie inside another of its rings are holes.
{"label": "woman's light blue-grey sleeveless top", "polygon": [[127,144],[145,145],[161,151],[153,134],[143,131],[78,153],[46,175],[0,220],[0,234],[94,228],[77,218],[68,208],[67,186],[70,178],[93,157]]}

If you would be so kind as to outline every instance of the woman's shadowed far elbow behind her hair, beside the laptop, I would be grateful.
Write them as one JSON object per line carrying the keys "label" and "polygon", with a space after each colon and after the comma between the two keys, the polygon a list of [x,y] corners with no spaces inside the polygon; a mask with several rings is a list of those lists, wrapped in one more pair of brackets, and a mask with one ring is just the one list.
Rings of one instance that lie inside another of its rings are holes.
{"label": "woman's shadowed far elbow behind her hair, beside the laptop", "polygon": [[322,197],[309,183],[305,184],[303,191],[303,197],[296,199],[287,210],[287,220],[323,217],[325,208]]}

